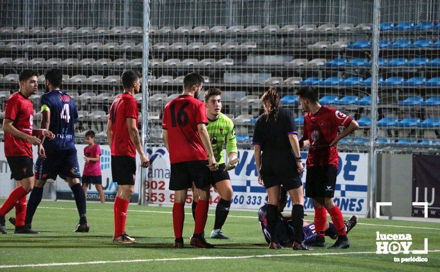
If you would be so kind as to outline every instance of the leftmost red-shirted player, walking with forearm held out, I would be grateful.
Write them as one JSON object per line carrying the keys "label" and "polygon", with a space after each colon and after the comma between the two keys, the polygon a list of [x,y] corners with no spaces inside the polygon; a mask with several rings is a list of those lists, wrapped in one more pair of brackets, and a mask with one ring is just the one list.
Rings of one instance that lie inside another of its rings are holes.
{"label": "leftmost red-shirted player, walking with forearm held out", "polygon": [[15,188],[0,208],[0,232],[7,233],[4,216],[15,207],[14,233],[38,233],[25,225],[26,195],[34,187],[34,162],[32,144],[39,145],[36,136],[53,138],[47,130],[34,130],[34,108],[29,97],[38,90],[38,73],[23,70],[19,77],[20,90],[6,101],[3,120],[4,155],[11,169],[11,179],[17,181]]}

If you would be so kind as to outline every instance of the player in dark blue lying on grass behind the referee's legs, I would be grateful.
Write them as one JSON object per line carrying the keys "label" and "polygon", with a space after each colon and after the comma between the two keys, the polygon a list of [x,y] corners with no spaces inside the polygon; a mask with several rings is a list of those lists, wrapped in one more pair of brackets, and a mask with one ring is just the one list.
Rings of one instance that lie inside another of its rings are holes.
{"label": "player in dark blue lying on grass behind the referee's legs", "polygon": [[[280,201],[278,204],[278,217],[276,222],[277,236],[279,243],[284,247],[292,247],[295,241],[295,230],[292,225],[290,217],[283,216],[287,203],[287,191],[281,189]],[[267,231],[267,205],[264,205],[258,211],[258,220],[260,221],[261,229],[263,230],[264,239],[267,244],[272,240]],[[346,232],[348,233],[357,224],[357,216],[353,215],[349,220],[344,221]],[[312,243],[316,239],[315,224],[312,221],[304,221],[303,223],[304,243],[306,245]],[[325,235],[332,239],[338,238],[338,230],[333,223],[327,222],[325,225]]]}

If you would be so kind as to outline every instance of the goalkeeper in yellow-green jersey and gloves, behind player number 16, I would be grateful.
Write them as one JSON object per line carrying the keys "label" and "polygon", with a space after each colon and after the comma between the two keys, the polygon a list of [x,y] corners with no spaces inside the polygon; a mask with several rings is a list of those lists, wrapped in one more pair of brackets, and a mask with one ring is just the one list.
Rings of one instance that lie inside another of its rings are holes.
{"label": "goalkeeper in yellow-green jersey and gloves, behind player number 16", "polygon": [[[216,208],[216,221],[211,238],[229,239],[221,232],[226,217],[229,213],[232,200],[232,185],[227,171],[234,169],[238,163],[237,139],[235,138],[235,127],[232,120],[220,112],[221,110],[221,91],[217,88],[211,88],[205,92],[204,100],[206,106],[206,115],[209,124],[206,127],[211,139],[214,156],[219,169],[211,172],[211,184],[216,188],[220,195],[220,201]],[[226,144],[226,153],[228,156],[227,165],[223,159],[223,144]],[[193,202],[192,214],[194,216],[198,200],[197,190],[193,184]]]}

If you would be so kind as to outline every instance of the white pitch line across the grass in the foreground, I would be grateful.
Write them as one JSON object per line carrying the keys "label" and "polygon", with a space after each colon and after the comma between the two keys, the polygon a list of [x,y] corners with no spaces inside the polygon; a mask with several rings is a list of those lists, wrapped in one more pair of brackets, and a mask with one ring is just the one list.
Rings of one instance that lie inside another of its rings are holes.
{"label": "white pitch line across the grass in the foreground", "polygon": [[[439,249],[429,250],[428,252],[440,252]],[[77,263],[47,263],[32,265],[10,265],[0,266],[0,268],[23,268],[23,267],[54,267],[54,266],[79,266],[79,265],[98,265],[115,263],[145,263],[145,262],[167,262],[167,261],[198,261],[198,260],[229,260],[229,259],[250,259],[250,258],[278,258],[278,257],[300,257],[300,256],[323,256],[323,255],[351,255],[351,254],[375,254],[376,251],[363,252],[334,252],[334,253],[302,253],[302,254],[267,254],[267,255],[247,255],[247,256],[217,256],[217,257],[192,257],[192,258],[167,258],[167,259],[137,259],[137,260],[119,260],[119,261],[94,261]]]}

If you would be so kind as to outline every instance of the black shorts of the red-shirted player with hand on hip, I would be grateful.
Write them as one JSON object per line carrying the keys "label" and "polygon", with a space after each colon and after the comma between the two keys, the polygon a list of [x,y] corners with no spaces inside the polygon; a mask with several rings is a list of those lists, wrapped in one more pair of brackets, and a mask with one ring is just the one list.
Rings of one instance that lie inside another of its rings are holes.
{"label": "black shorts of the red-shirted player with hand on hip", "polygon": [[335,194],[338,169],[333,165],[313,166],[306,172],[306,197],[328,197]]}

